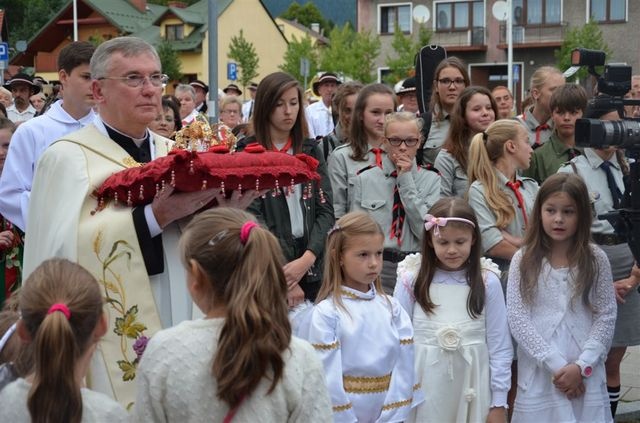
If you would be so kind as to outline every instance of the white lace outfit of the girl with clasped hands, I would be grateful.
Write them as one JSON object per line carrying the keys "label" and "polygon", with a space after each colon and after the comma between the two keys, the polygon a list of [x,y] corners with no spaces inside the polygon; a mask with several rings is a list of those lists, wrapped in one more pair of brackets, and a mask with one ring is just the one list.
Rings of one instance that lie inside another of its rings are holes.
{"label": "white lace outfit of the girl with clasped hands", "polygon": [[[532,306],[520,295],[522,250],[511,262],[507,313],[518,342],[518,393],[513,422],[610,422],[604,360],[616,320],[616,302],[607,256],[593,246],[599,276],[589,300],[571,300],[570,268],[554,269],[543,261]],[[569,400],[552,383],[552,376],[576,360],[592,366],[584,379],[586,392]]]}

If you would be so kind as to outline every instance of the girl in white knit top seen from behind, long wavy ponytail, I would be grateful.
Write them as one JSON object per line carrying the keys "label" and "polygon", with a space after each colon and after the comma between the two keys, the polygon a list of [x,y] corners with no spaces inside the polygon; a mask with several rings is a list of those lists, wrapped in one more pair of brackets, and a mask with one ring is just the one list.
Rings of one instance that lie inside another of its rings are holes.
{"label": "girl in white knit top seen from behind, long wavy ponytail", "polygon": [[276,238],[231,208],[197,215],[180,240],[205,318],[151,338],[138,368],[136,422],[321,422],[331,418],[322,365],[291,336]]}

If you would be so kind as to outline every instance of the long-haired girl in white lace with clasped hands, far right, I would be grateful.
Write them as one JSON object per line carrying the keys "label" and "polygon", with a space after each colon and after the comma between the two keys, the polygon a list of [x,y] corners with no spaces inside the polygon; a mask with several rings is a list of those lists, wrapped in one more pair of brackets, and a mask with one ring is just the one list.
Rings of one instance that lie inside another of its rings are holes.
{"label": "long-haired girl in white lace with clasped hands, far right", "polygon": [[616,302],[604,252],[590,243],[591,207],[579,176],[540,187],[507,285],[518,343],[513,422],[610,422],[604,360]]}

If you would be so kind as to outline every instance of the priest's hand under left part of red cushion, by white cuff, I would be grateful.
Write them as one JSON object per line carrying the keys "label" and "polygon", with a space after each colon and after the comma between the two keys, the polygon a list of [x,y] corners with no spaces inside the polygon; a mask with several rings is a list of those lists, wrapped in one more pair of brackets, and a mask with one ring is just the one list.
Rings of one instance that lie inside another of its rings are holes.
{"label": "priest's hand under left part of red cushion, by white cuff", "polygon": [[178,219],[192,215],[216,198],[219,188],[211,188],[204,191],[176,192],[171,186],[167,186],[151,203],[151,210],[164,229],[167,225]]}

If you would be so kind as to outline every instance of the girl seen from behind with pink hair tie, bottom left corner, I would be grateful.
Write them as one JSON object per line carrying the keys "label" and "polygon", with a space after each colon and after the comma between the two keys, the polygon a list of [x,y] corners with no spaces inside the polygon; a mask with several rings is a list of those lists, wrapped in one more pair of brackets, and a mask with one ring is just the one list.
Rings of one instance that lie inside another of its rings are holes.
{"label": "girl seen from behind with pink hair tie, bottom left corner", "polygon": [[12,336],[32,345],[34,366],[0,391],[2,420],[128,421],[120,404],[83,387],[107,331],[96,279],[68,260],[47,260],[27,278],[19,297],[22,317]]}

